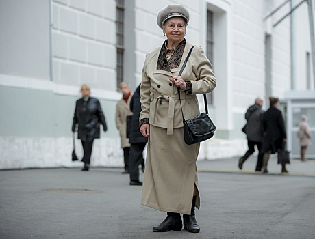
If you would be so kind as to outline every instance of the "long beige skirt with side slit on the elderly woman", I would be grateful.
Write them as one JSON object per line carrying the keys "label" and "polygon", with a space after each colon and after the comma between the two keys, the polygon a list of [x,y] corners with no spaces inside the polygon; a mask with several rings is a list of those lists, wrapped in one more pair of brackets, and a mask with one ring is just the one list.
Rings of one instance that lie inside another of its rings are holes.
{"label": "long beige skirt with side slit on the elderly woman", "polygon": [[183,128],[166,135],[166,128],[150,125],[141,204],[163,212],[191,212],[194,185],[200,207],[196,161],[199,143],[187,145]]}

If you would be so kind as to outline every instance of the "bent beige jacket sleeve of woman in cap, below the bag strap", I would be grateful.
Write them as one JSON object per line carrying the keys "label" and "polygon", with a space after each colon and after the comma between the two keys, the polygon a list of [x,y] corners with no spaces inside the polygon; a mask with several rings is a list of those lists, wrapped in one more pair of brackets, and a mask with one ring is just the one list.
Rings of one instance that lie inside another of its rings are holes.
{"label": "bent beige jacket sleeve of woman in cap, below the bag strap", "polygon": [[192,60],[192,70],[197,78],[197,81],[191,81],[192,94],[212,92],[216,87],[216,76],[214,76],[212,65],[201,46],[194,47],[190,59]]}

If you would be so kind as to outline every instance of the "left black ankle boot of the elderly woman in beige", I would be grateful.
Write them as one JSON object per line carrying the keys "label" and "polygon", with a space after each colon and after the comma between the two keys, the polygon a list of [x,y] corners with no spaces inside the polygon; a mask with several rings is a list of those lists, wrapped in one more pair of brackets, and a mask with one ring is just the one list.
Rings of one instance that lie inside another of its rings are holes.
{"label": "left black ankle boot of the elderly woman in beige", "polygon": [[164,221],[162,221],[162,223],[160,223],[157,227],[153,227],[153,231],[181,231],[181,227],[183,227],[181,215],[175,212],[168,212],[166,219],[164,219]]}

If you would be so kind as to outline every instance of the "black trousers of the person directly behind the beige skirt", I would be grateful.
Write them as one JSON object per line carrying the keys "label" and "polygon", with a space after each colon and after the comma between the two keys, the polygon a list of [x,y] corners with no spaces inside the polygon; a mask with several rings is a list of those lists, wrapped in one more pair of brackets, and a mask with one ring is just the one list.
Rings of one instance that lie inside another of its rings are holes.
{"label": "black trousers of the person directly behind the beige skirt", "polygon": [[146,144],[147,143],[131,143],[129,160],[130,181],[139,181],[139,165],[143,163],[142,155]]}

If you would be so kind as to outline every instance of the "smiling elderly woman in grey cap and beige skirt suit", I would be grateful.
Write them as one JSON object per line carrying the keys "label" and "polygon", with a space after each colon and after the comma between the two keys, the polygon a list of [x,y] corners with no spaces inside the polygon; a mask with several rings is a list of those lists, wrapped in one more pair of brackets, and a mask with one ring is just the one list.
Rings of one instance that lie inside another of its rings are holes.
{"label": "smiling elderly woman in grey cap and beige skirt suit", "polygon": [[199,115],[196,94],[212,92],[216,86],[210,61],[200,46],[195,46],[186,68],[181,66],[192,48],[186,42],[189,12],[182,5],[168,5],[157,16],[157,25],[167,40],[162,47],[147,53],[142,70],[140,132],[149,137],[147,165],[144,172],[142,205],[167,212],[166,219],[153,231],[199,232],[194,208],[200,197],[196,160],[199,143],[184,142],[183,119]]}

